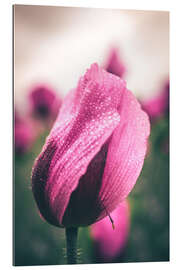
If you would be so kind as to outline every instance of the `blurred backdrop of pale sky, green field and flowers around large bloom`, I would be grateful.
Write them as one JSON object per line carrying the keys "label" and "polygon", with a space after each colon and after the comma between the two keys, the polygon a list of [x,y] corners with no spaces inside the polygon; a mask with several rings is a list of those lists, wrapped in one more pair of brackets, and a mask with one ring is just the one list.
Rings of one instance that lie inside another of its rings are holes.
{"label": "blurred backdrop of pale sky, green field and flowers around large bloom", "polygon": [[123,70],[117,75],[149,114],[151,136],[128,197],[125,247],[104,258],[91,228],[81,228],[78,262],[169,260],[169,13],[15,5],[15,265],[66,263],[64,230],[39,217],[30,177],[64,96],[94,62]]}

